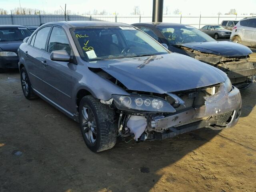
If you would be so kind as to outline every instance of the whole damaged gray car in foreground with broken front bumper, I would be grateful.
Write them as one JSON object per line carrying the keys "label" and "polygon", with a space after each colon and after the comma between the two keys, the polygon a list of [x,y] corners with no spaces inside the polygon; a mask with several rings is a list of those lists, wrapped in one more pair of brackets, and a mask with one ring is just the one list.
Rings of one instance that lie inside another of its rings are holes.
{"label": "whole damaged gray car in foreground with broken front bumper", "polygon": [[227,75],[169,52],[133,26],[52,22],[19,48],[21,85],[79,122],[88,148],[230,128],[241,96]]}

